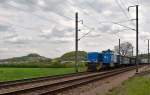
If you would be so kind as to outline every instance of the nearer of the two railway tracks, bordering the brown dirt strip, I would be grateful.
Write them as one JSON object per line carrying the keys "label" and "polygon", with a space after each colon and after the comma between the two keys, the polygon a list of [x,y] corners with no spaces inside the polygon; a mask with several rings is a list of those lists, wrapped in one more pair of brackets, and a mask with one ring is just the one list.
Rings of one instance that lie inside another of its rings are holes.
{"label": "nearer of the two railway tracks, bordering the brown dirt strip", "polygon": [[80,78],[69,79],[69,80],[56,82],[52,84],[31,87],[31,88],[26,88],[22,90],[12,91],[12,92],[10,91],[6,93],[1,93],[0,95],[20,95],[20,94],[30,95],[29,93],[32,93],[32,95],[33,93],[36,93],[35,95],[45,95],[49,93],[58,93],[59,91],[63,91],[73,86],[78,86],[81,84],[89,83],[91,81],[113,76],[113,75],[120,74],[125,71],[133,70],[133,69],[135,69],[135,66],[101,72],[95,75],[87,75],[87,76],[83,76]]}

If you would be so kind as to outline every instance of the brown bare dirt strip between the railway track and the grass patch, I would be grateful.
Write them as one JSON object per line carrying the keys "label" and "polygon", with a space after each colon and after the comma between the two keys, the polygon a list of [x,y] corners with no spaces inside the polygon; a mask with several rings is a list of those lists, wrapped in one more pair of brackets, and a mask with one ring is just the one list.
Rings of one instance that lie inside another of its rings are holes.
{"label": "brown bare dirt strip between the railway track and the grass patch", "polygon": [[[148,70],[147,66],[139,69],[139,72]],[[128,71],[104,80],[89,83],[78,88],[73,88],[59,95],[106,95],[112,88],[118,87],[125,80],[135,75],[135,70]]]}

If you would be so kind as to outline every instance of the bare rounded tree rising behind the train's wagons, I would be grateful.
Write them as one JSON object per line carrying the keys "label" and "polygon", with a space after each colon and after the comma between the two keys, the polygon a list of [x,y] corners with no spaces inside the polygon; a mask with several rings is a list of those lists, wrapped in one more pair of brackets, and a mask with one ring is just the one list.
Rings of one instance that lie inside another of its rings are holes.
{"label": "bare rounded tree rising behind the train's wagons", "polygon": [[[119,54],[119,45],[114,47],[116,53]],[[120,44],[120,54],[122,56],[133,56],[133,45],[129,42]]]}

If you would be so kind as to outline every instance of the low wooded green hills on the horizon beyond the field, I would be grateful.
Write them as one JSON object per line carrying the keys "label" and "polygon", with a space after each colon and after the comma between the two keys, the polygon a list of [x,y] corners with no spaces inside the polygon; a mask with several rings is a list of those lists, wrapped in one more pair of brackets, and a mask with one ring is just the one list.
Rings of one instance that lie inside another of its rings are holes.
{"label": "low wooded green hills on the horizon beyond the field", "polygon": [[[79,61],[85,61],[86,60],[87,53],[85,51],[79,51],[78,52],[78,60]],[[75,52],[71,51],[68,53],[63,54],[59,58],[46,58],[43,56],[40,56],[39,54],[28,54],[27,56],[22,57],[14,57],[9,59],[3,59],[0,60],[1,64],[6,63],[52,63],[53,61],[62,62],[62,61],[74,61],[75,59]]]}

